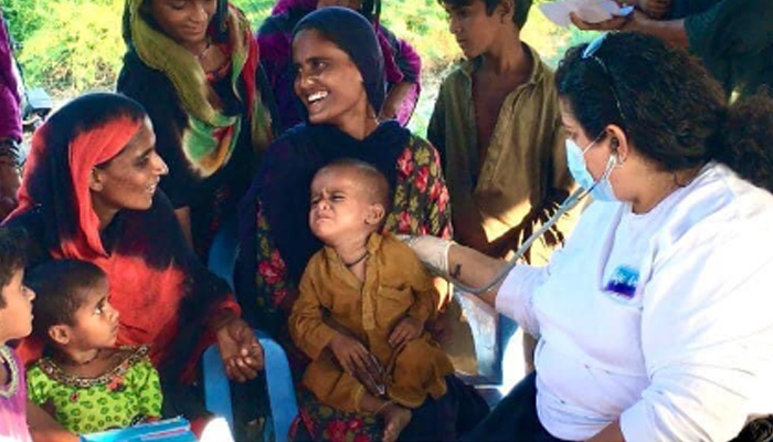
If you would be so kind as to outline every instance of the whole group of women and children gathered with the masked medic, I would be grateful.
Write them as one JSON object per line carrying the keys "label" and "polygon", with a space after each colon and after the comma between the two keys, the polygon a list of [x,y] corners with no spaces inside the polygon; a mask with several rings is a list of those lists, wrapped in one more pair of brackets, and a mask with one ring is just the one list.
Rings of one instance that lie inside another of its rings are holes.
{"label": "whole group of women and children gathered with the masked medic", "polygon": [[[200,434],[213,344],[255,439],[257,327],[297,388],[277,440],[773,440],[773,6],[634,6],[572,15],[614,32],[553,72],[520,39],[531,0],[440,0],[465,61],[425,139],[420,54],[380,0],[263,23],[126,0],[116,93],[62,106],[25,162],[0,29],[0,439]],[[203,264],[229,222],[234,287]],[[491,409],[444,350],[443,280],[508,259],[479,296],[530,373]]]}

